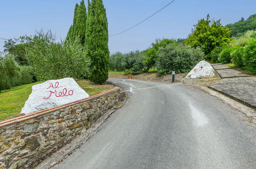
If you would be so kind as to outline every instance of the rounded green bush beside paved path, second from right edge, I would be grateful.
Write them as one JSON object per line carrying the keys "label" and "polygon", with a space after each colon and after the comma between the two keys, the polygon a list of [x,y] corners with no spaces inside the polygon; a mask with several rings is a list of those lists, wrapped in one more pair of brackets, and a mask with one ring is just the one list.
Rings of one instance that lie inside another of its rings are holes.
{"label": "rounded green bush beside paved path, second from right edge", "polygon": [[244,66],[243,59],[242,59],[243,54],[244,54],[243,47],[233,47],[233,50],[231,53],[231,61],[238,68],[242,68]]}

